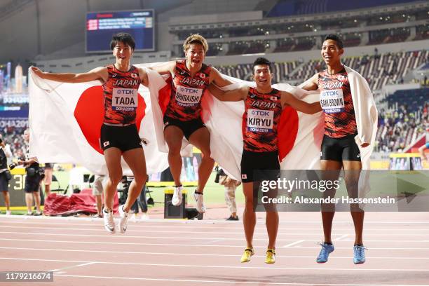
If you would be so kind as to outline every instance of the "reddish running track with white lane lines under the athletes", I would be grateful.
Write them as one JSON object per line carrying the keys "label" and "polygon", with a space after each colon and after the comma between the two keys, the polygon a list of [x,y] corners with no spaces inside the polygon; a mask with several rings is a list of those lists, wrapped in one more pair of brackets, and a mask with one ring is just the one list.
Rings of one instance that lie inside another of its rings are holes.
{"label": "reddish running track with white lane lines under the athletes", "polygon": [[32,286],[429,285],[428,213],[367,212],[362,265],[353,264],[350,214],[336,214],[332,237],[335,251],[316,264],[320,214],[282,213],[277,261],[264,264],[259,219],[256,254],[241,264],[242,222],[149,220],[111,235],[102,219],[0,216],[0,271],[54,271],[54,282],[25,283]]}

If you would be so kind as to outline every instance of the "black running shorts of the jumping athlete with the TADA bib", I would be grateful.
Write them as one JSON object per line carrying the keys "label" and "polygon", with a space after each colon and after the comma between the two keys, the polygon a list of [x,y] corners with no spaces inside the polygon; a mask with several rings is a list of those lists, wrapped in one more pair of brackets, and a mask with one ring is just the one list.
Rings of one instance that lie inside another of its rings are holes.
{"label": "black running shorts of the jumping athlete with the TADA bib", "polygon": [[102,125],[100,145],[104,150],[116,147],[125,152],[142,148],[142,140],[135,124],[127,126]]}

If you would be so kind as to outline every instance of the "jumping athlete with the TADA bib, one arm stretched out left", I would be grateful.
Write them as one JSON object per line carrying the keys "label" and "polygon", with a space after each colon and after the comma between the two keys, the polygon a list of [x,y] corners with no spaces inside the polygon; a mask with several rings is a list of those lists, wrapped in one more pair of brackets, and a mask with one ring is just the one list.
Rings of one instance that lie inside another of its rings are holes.
{"label": "jumping athlete with the TADA bib, one arm stretched out left", "polygon": [[135,125],[137,109],[137,90],[140,83],[147,86],[148,79],[144,69],[130,64],[135,41],[127,33],[113,36],[110,48],[116,62],[107,67],[97,67],[82,74],[52,74],[32,67],[42,79],[66,83],[82,83],[100,80],[104,90],[104,120],[101,128],[100,144],[104,150],[109,179],[104,192],[104,228],[115,233],[113,218],[114,193],[122,179],[121,157],[130,167],[134,180],[128,191],[128,198],[119,207],[121,219],[119,228],[124,233],[127,228],[128,211],[147,179],[146,162],[141,140]]}

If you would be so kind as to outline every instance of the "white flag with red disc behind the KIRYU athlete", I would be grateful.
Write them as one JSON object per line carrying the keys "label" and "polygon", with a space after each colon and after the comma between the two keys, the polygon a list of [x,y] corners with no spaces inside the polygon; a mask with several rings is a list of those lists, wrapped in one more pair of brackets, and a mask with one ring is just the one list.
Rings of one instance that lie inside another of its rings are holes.
{"label": "white flag with red disc behind the KIRYU athlete", "polygon": [[[165,111],[165,102],[170,99],[171,77],[160,76],[150,69],[147,72],[158,147],[161,151],[168,151],[163,137],[163,111]],[[240,85],[254,86],[255,84],[231,76],[222,76],[233,82],[230,86],[224,87],[225,90],[235,89]],[[309,93],[289,84],[275,84],[273,88],[285,90],[306,102],[318,101],[318,93]],[[221,102],[207,91],[203,96],[202,106],[201,118],[210,130],[212,158],[231,177],[240,180],[244,102]],[[280,118],[278,135],[279,156],[282,160],[280,167],[284,170],[319,169],[323,132],[322,112],[308,115],[290,107],[285,109]],[[182,147],[186,147],[186,144],[189,143],[183,139]]]}

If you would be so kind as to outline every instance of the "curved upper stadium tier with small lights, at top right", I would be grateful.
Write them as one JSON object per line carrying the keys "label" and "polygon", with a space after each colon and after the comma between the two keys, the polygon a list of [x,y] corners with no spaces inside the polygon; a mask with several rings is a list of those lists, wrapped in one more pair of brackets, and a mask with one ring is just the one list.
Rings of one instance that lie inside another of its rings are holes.
{"label": "curved upper stadium tier with small lights, at top right", "polygon": [[[235,19],[234,15],[236,13],[231,13],[231,19]],[[212,46],[210,55],[318,49],[323,37],[332,33],[340,34],[346,47],[429,39],[428,1],[305,16],[264,18],[257,13],[248,15],[249,20],[210,22],[214,15],[207,15],[205,22],[200,16],[170,21],[170,33],[175,36],[173,55],[180,55],[183,40],[196,33],[205,36]],[[202,22],[197,24],[198,20]]]}

